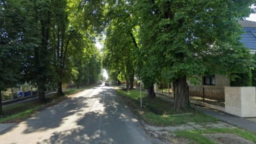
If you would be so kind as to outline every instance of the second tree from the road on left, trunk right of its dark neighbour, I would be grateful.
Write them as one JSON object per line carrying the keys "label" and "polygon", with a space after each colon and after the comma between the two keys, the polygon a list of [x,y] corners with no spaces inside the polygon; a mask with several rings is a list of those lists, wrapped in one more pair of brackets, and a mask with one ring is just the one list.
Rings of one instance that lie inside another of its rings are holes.
{"label": "second tree from the road on left, trunk right of its dark neighbour", "polygon": [[[57,96],[63,96],[62,83],[69,78],[71,68],[68,69],[68,56],[70,55],[70,41],[74,38],[75,30],[68,21],[66,0],[52,1],[54,9],[51,28],[51,44],[55,48],[55,68],[58,74]],[[68,81],[68,80],[67,80]]]}

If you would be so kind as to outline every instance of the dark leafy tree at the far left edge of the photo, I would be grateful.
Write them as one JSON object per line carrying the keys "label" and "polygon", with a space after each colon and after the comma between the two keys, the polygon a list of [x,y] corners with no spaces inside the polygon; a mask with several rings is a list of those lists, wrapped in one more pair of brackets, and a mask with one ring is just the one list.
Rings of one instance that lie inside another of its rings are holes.
{"label": "dark leafy tree at the far left edge of the photo", "polygon": [[19,1],[0,1],[0,91],[22,82],[22,65],[26,64],[24,56],[36,45],[34,33],[28,26],[31,20]]}

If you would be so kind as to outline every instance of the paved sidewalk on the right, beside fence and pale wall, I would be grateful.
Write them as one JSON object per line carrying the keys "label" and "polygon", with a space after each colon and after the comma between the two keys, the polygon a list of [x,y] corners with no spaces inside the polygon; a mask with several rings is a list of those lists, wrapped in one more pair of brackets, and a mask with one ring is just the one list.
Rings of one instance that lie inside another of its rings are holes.
{"label": "paved sidewalk on the right, beside fence and pale wall", "polygon": [[[173,98],[171,98],[171,97],[164,96],[162,94],[156,94],[156,96],[158,96],[164,100],[167,100],[169,102],[173,102]],[[202,106],[196,106],[194,104],[192,104],[192,108],[195,108],[196,110],[204,112],[204,113],[206,113],[210,116],[213,116],[215,118],[219,118],[221,121],[231,124],[233,126],[238,126],[238,127],[241,127],[241,128],[244,128],[246,130],[250,130],[250,131],[256,133],[256,122],[247,120],[245,118],[240,118],[238,116],[230,115],[225,112],[218,111],[218,110],[213,110],[213,109],[202,107]]]}

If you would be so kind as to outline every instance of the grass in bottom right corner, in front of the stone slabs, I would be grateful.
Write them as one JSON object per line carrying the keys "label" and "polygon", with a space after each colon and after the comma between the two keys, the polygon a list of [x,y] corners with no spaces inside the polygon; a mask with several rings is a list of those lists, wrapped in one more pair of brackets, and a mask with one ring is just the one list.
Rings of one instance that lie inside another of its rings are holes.
{"label": "grass in bottom right corner, in front of the stone slabs", "polygon": [[[256,134],[254,132],[250,132],[248,130],[243,130],[240,128],[210,128],[207,130],[180,130],[174,132],[175,137],[189,138],[192,143],[195,142],[196,144],[216,144],[216,142],[210,140],[209,138],[204,136],[204,134],[235,134],[236,136],[240,136],[241,138],[256,143]],[[230,144],[232,144],[231,139]]]}

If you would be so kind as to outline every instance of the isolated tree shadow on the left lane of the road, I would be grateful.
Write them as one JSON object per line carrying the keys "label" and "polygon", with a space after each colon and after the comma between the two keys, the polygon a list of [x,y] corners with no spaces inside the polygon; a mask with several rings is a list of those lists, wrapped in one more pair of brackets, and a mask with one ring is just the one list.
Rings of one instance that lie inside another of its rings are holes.
{"label": "isolated tree shadow on the left lane of the road", "polygon": [[47,108],[25,121],[27,128],[23,133],[58,128],[65,120],[68,120],[68,116],[81,114],[82,109],[88,107],[87,100],[88,98],[82,96],[69,98],[60,104]]}

